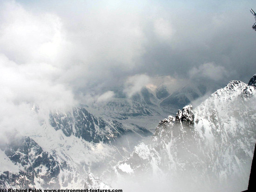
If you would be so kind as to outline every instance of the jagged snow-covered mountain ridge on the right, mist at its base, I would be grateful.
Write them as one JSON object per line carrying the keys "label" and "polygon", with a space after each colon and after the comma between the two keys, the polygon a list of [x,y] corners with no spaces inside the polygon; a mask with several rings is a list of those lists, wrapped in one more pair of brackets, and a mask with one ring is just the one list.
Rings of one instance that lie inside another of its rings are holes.
{"label": "jagged snow-covered mountain ridge on the right, mist at its base", "polygon": [[248,85],[231,81],[194,110],[185,106],[160,121],[152,140],[115,166],[116,185],[125,189],[126,180],[140,190],[246,190],[256,143],[255,85],[256,75]]}

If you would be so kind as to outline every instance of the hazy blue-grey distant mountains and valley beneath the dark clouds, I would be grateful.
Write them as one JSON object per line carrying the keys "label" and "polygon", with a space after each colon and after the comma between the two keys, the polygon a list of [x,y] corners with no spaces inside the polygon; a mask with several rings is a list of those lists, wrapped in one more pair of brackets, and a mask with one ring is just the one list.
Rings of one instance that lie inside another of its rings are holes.
{"label": "hazy blue-grey distant mountains and valley beneath the dark clouds", "polygon": [[160,84],[155,89],[146,86],[130,98],[115,93],[117,97],[104,102],[94,102],[87,106],[94,115],[116,119],[122,123],[133,123],[155,131],[159,119],[174,114],[179,108],[190,104],[216,90],[204,84],[188,85],[173,91]]}

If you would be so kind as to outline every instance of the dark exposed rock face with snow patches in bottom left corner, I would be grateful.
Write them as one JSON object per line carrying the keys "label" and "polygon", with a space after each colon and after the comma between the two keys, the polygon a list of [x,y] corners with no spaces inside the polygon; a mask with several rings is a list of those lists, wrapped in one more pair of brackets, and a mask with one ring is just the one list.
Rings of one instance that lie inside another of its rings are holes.
{"label": "dark exposed rock face with snow patches in bottom left corner", "polygon": [[[53,156],[29,137],[15,138],[8,143],[4,152],[6,156],[19,166],[17,173],[5,171],[0,175],[0,187],[35,188],[36,183],[44,188],[60,187],[58,174],[60,165]],[[11,165],[12,166],[12,165]]]}

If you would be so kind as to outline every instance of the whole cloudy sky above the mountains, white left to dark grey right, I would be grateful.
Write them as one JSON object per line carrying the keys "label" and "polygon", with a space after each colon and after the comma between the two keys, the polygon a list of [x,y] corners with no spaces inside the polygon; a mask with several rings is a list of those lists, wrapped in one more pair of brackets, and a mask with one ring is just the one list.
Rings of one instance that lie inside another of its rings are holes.
{"label": "whole cloudy sky above the mountains, white left to dark grey right", "polygon": [[0,0],[0,102],[74,106],[159,79],[248,83],[250,8],[252,0]]}

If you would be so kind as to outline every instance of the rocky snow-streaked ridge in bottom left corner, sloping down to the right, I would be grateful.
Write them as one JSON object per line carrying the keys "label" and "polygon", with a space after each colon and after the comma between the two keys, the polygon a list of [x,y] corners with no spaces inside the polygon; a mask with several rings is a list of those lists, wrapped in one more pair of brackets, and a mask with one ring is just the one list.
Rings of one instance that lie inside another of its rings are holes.
{"label": "rocky snow-streaked ridge in bottom left corner, sloping down to the right", "polygon": [[77,171],[74,170],[75,167],[70,166],[66,161],[58,161],[56,153],[50,154],[44,151],[29,137],[13,138],[4,146],[3,151],[1,151],[1,163],[6,167],[2,165],[0,171],[2,189],[59,189],[68,187],[72,182],[76,183],[76,186],[110,188],[92,173],[75,172]]}

